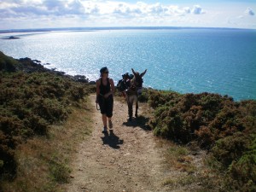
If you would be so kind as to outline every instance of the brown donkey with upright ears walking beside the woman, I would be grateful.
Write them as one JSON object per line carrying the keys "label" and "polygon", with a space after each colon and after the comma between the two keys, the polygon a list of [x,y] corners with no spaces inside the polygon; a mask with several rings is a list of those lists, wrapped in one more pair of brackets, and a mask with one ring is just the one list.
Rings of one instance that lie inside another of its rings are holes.
{"label": "brown donkey with upright ears walking beside the woman", "polygon": [[138,96],[142,94],[143,91],[143,76],[147,72],[147,69],[143,73],[138,73],[131,68],[132,73],[134,74],[133,79],[131,79],[130,86],[127,90],[125,90],[126,93],[126,102],[128,105],[128,113],[129,113],[129,120],[132,119],[132,106],[133,102],[136,103],[136,111],[135,111],[135,117],[137,117],[137,109],[138,109]]}

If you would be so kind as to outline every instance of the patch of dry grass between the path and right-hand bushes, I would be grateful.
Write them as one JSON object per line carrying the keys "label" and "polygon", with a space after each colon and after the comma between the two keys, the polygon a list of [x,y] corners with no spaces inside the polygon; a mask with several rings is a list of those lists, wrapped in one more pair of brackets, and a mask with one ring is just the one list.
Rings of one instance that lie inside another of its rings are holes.
{"label": "patch of dry grass between the path and right-hand bushes", "polygon": [[162,148],[166,170],[172,172],[162,180],[161,185],[173,191],[223,191],[220,172],[209,167],[206,152],[194,146],[181,146],[162,138],[157,139],[157,147]]}

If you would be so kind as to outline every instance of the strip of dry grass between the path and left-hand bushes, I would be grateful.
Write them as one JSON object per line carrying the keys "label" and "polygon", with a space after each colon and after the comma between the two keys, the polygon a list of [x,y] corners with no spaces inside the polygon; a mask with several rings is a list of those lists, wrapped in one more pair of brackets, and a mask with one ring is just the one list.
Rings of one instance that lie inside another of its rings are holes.
{"label": "strip of dry grass between the path and left-hand bushes", "polygon": [[53,125],[48,137],[34,137],[20,144],[16,153],[17,176],[2,183],[4,191],[65,191],[61,183],[70,179],[70,163],[78,144],[90,136],[92,120],[89,102],[73,113],[63,125]]}

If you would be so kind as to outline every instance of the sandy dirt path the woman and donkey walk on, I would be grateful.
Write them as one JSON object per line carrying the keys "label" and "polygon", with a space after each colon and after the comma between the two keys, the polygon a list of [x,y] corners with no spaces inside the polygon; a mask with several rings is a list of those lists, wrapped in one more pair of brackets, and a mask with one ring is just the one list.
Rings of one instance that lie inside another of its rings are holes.
{"label": "sandy dirt path the woman and donkey walk on", "polygon": [[[90,96],[93,105],[95,98]],[[114,101],[113,131],[107,136],[102,134],[101,113],[95,108],[92,116],[93,131],[79,145],[67,191],[169,191],[162,181],[173,173],[165,171],[152,131],[137,119],[127,122],[125,103]]]}

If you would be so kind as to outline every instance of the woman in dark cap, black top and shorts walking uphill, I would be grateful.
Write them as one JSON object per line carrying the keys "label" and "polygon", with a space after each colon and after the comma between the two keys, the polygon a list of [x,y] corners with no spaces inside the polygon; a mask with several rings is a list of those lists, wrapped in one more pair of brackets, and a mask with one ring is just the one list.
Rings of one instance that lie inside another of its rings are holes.
{"label": "woman in dark cap, black top and shorts walking uphill", "polygon": [[113,116],[114,84],[113,79],[108,78],[108,67],[102,67],[100,73],[101,78],[96,81],[96,103],[98,103],[101,108],[103,123],[102,133],[107,133],[108,127],[109,129],[113,127],[111,118]]}

